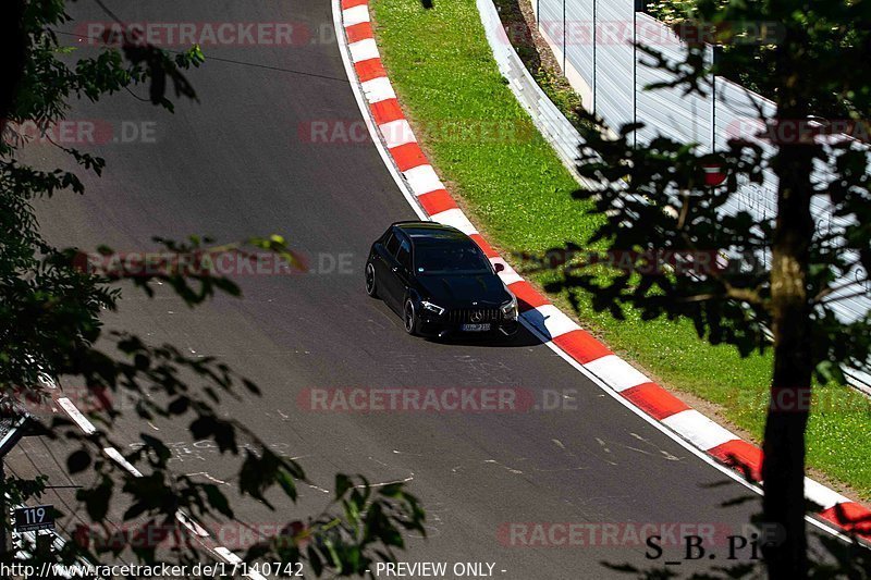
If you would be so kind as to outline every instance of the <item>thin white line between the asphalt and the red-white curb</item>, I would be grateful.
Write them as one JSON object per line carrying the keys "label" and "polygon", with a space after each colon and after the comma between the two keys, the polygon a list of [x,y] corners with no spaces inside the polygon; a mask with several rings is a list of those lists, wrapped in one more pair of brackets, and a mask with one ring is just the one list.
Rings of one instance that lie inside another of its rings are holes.
{"label": "thin white line between the asphalt and the red-white curb", "polygon": [[[420,203],[417,200],[417,198],[413,194],[409,195],[409,192],[407,189],[407,184],[405,184],[403,182],[402,176],[398,173],[398,170],[396,169],[395,164],[393,163],[393,159],[389,156],[388,151],[384,149],[383,143],[381,141],[381,137],[378,134],[378,129],[377,129],[377,127],[375,125],[375,122],[372,121],[369,108],[366,104],[366,102],[364,100],[364,97],[363,97],[363,92],[361,92],[361,90],[359,88],[359,85],[358,85],[358,82],[357,82],[356,71],[353,69],[353,65],[351,64],[349,57],[348,57],[348,54],[346,52],[347,51],[347,42],[344,41],[345,29],[342,26],[342,9],[341,9],[341,5],[340,5],[340,2],[341,2],[341,0],[332,0],[333,25],[335,27],[336,45],[339,46],[339,52],[342,54],[342,62],[344,62],[344,64],[345,64],[345,73],[347,74],[347,77],[348,77],[348,84],[351,85],[351,90],[352,90],[352,92],[354,92],[354,97],[356,98],[357,104],[360,108],[360,113],[363,113],[363,119],[366,122],[366,126],[369,128],[369,133],[372,136],[373,143],[376,144],[376,148],[378,149],[378,152],[381,155],[381,158],[384,160],[384,165],[387,166],[387,169],[390,172],[390,174],[393,176],[393,181],[396,182],[396,186],[402,192],[402,194],[405,197],[406,201],[408,201],[408,205],[412,206],[412,209],[415,211],[415,213],[417,213],[417,215],[421,220],[432,221],[430,219],[430,217],[427,214],[427,212],[424,211],[424,208],[420,207]],[[714,469],[716,469],[720,472],[724,473],[725,476],[732,478],[733,480],[735,480],[736,482],[740,483],[741,485],[744,485],[748,490],[751,490],[751,491],[756,492],[758,495],[762,495],[762,488],[760,488],[759,485],[756,485],[756,484],[752,484],[752,483],[748,482],[747,480],[745,480],[737,472],[735,472],[732,469],[727,468],[726,466],[717,462],[716,460],[714,460],[713,457],[711,457],[707,453],[702,452],[701,449],[697,448],[695,445],[692,445],[688,441],[684,440],[680,435],[678,435],[677,433],[675,433],[671,429],[665,428],[665,425],[663,425],[663,423],[661,423],[660,421],[658,421],[658,420],[653,419],[652,417],[650,417],[649,415],[647,415],[645,411],[642,411],[641,409],[639,409],[638,407],[633,405],[631,402],[629,402],[628,399],[623,397],[619,393],[614,392],[610,386],[608,386],[605,383],[600,381],[598,377],[596,377],[594,374],[589,372],[587,369],[585,369],[582,365],[580,365],[579,362],[574,360],[572,357],[569,357],[559,346],[556,346],[552,341],[550,341],[549,338],[544,337],[544,335],[542,335],[535,326],[529,324],[527,321],[523,320],[523,317],[519,317],[519,318],[520,318],[520,322],[523,323],[523,325],[529,332],[531,332],[542,343],[548,345],[548,347],[551,350],[553,350],[554,353],[556,353],[563,360],[565,360],[566,362],[572,365],[581,374],[584,374],[590,381],[592,381],[593,384],[596,384],[602,391],[604,391],[605,393],[611,395],[611,397],[616,399],[621,405],[623,405],[624,407],[626,407],[627,409],[633,411],[635,415],[637,415],[638,417],[640,417],[641,419],[643,419],[645,421],[647,421],[648,423],[653,425],[657,430],[659,430],[660,432],[664,433],[666,436],[672,439],[675,443],[677,443],[678,445],[680,445],[682,447],[684,447],[685,449],[687,449],[688,452],[694,454],[696,457],[700,458],[706,464],[710,465],[711,467],[713,467]],[[836,538],[839,538],[839,539],[845,540],[845,541],[850,541],[850,538],[847,536],[846,534],[842,533],[839,530],[837,530],[835,528],[832,528],[827,523],[823,523],[822,521],[815,519],[814,517],[812,517],[810,515],[806,515],[805,516],[805,520],[808,521],[809,523],[811,523],[812,526],[815,526],[817,528],[831,533],[832,535],[834,535]]]}

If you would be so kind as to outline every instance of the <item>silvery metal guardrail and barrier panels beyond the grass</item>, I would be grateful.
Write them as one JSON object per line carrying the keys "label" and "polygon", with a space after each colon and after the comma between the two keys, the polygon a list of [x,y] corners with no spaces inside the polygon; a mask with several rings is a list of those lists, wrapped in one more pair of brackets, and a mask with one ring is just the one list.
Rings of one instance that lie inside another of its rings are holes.
{"label": "silvery metal guardrail and barrier panels beyond the grass", "polygon": [[[576,170],[578,147],[584,144],[577,129],[560,112],[529,74],[512,47],[511,39],[492,0],[477,0],[488,41],[500,72],[507,79],[520,104],[544,138],[553,146],[563,164],[585,187],[596,187],[581,180]],[[774,102],[723,77],[711,77],[712,94],[685,96],[678,89],[648,91],[645,87],[667,81],[665,73],[639,64],[636,41],[655,42],[666,59],[682,59],[684,44],[663,23],[636,10],[636,0],[532,0],[539,32],[550,45],[572,86],[585,106],[604,119],[610,127],[640,122],[645,127],[636,138],[642,145],[657,135],[684,143],[697,143],[702,150],[722,150],[726,141],[741,134],[752,140],[759,129],[759,112],[773,116]],[[708,47],[707,58],[713,59]],[[753,128],[756,127],[756,128]],[[765,153],[773,148],[756,139]],[[825,183],[832,175],[818,166],[815,180]],[[776,207],[777,180],[765,170],[761,185],[747,181],[739,185],[727,211],[748,211],[760,221],[770,220]],[[820,231],[836,231],[845,221],[833,217],[822,196],[813,199],[813,215]],[[857,264],[849,273],[867,280],[869,273]],[[871,283],[866,296],[844,299],[836,313],[854,321],[871,310]],[[850,384],[871,395],[869,369],[845,369]]]}

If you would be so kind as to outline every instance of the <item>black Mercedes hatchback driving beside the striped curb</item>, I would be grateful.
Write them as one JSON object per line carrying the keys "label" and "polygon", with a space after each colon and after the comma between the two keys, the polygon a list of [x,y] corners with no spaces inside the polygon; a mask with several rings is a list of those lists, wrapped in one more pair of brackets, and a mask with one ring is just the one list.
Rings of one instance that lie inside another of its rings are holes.
{"label": "black Mercedes hatchback driving beside the striped curb", "polygon": [[517,299],[481,248],[455,227],[397,222],[372,244],[366,293],[403,317],[409,334],[517,332]]}

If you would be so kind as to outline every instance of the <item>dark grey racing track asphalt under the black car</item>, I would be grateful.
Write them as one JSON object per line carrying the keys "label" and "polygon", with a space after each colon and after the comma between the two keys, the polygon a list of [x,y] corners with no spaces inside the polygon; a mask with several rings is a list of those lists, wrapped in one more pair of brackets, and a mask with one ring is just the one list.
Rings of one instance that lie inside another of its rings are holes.
{"label": "dark grey racing track asphalt under the black car", "polygon": [[[407,480],[427,509],[429,538],[413,539],[403,559],[493,562],[506,579],[626,578],[601,562],[662,565],[647,560],[643,546],[504,546],[498,530],[506,522],[715,522],[740,532],[758,502],[722,504],[748,495],[746,488],[530,336],[510,346],[413,338],[385,305],[366,296],[370,243],[389,223],[415,214],[371,144],[300,138],[311,121],[351,123],[365,133],[328,2],[109,7],[128,22],[296,21],[314,34],[312,42],[290,48],[205,47],[207,63],[189,73],[201,102],[179,102],[175,114],[126,92],[96,107],[76,104],[70,119],[154,123],[156,143],[98,147],[108,162],[105,176],[86,178],[84,197],[58,196],[38,208],[46,235],[59,245],[142,250],[156,248],[156,235],[230,242],[281,233],[315,263],[320,254],[351,256],[349,273],[244,276],[244,299],[219,298],[195,310],[163,288],[147,299],[125,287],[120,313],[107,318],[111,328],[152,343],[219,356],[262,388],[262,397],[226,403],[223,410],[299,457],[314,486],[302,488],[298,508],[279,515],[242,501],[240,519],[289,520],[323,507],[329,496],[318,488],[330,489],[338,470],[373,482]],[[108,20],[90,1],[71,9],[76,21],[66,32],[82,21]],[[50,147],[33,147],[46,163],[57,159]],[[305,388],[340,386],[556,390],[573,393],[576,408],[316,414],[297,406]],[[234,464],[194,445],[183,424],[127,417],[113,436],[124,451],[140,432],[172,444],[179,472],[232,489]]]}

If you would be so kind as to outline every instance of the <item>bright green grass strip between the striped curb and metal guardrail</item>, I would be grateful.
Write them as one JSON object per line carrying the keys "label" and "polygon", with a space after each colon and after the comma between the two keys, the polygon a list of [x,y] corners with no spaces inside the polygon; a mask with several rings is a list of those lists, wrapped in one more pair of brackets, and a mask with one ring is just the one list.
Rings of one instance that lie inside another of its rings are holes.
{"label": "bright green grass strip between the striped curb and metal guardrail", "polygon": [[[596,217],[572,199],[577,184],[538,134],[500,139],[499,127],[529,118],[499,73],[475,0],[376,0],[382,59],[418,137],[445,183],[458,193],[488,239],[503,254],[585,242]],[[451,131],[445,129],[451,127]],[[518,133],[524,135],[523,131]],[[544,283],[554,274],[537,274]],[[699,340],[688,321],[617,321],[578,295],[578,317],[618,355],[668,386],[713,403],[727,421],[759,442],[764,425],[770,356],[741,359],[729,346]],[[551,296],[568,310],[567,296]],[[808,464],[871,499],[871,403],[849,387],[817,391],[808,430]],[[708,410],[708,409],[702,409]]]}

